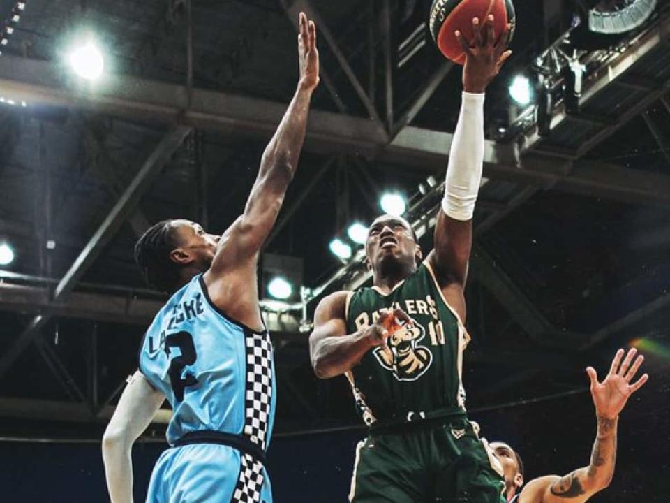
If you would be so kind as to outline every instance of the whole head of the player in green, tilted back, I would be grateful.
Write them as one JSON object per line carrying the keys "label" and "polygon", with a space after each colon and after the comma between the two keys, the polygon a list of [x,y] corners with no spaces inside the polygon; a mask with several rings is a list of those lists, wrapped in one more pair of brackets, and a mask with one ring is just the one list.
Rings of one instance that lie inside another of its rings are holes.
{"label": "whole head of the player in green, tilted back", "polygon": [[368,228],[365,245],[369,267],[382,273],[384,270],[414,271],[422,260],[421,247],[410,223],[402,217],[382,215]]}

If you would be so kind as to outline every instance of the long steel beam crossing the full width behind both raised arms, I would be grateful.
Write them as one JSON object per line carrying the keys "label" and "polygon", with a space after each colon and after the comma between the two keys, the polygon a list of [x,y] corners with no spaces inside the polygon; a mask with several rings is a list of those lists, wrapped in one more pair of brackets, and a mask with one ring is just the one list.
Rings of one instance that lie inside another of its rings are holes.
{"label": "long steel beam crossing the full width behind both raised arms", "polygon": [[[179,122],[199,129],[217,129],[233,137],[269,138],[280,122],[285,105],[218,92],[193,90],[193,106],[187,109],[186,88],[125,76],[110,76],[98,92],[76,89],[64,81],[59,68],[43,61],[0,58],[0,92],[12,99],[98,110],[110,115],[137,119]],[[359,154],[367,159],[399,164],[434,173],[446,166],[451,133],[406,126],[390,143],[368,119],[313,110],[308,124],[306,150],[320,154]],[[599,166],[603,167],[603,164]],[[572,169],[573,167],[579,169]],[[638,170],[590,173],[588,163],[575,163],[548,154],[522,156],[514,145],[487,141],[484,175],[549,188],[583,193],[586,177],[591,194],[602,198],[670,203],[666,177],[648,178]],[[645,182],[644,180],[649,180]],[[661,185],[656,187],[656,182]],[[614,189],[614,190],[613,190]]]}

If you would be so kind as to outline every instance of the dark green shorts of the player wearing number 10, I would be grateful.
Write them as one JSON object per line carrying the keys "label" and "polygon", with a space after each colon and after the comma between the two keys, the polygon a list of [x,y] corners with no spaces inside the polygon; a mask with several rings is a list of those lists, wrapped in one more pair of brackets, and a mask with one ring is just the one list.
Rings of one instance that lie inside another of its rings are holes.
{"label": "dark green shorts of the player wearing number 10", "polygon": [[505,502],[492,455],[467,418],[372,430],[356,449],[349,501]]}

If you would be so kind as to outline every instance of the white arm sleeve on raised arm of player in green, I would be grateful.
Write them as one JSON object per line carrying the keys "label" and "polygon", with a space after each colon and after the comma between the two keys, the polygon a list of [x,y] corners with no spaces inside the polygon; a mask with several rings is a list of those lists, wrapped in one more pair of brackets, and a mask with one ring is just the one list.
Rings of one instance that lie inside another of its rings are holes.
{"label": "white arm sleeve on raised arm of player in green", "polygon": [[484,166],[484,94],[463,92],[461,115],[456,125],[447,166],[442,210],[454,220],[466,221],[475,214]]}

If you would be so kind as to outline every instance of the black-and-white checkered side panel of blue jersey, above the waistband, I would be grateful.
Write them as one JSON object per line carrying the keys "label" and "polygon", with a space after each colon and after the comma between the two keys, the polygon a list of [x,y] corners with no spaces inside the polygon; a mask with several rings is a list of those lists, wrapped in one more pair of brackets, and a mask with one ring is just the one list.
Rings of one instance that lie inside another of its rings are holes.
{"label": "black-and-white checkered side panel of blue jersey, above the waistband", "polygon": [[272,344],[269,333],[245,332],[246,396],[244,435],[261,449],[267,448],[272,400]]}

